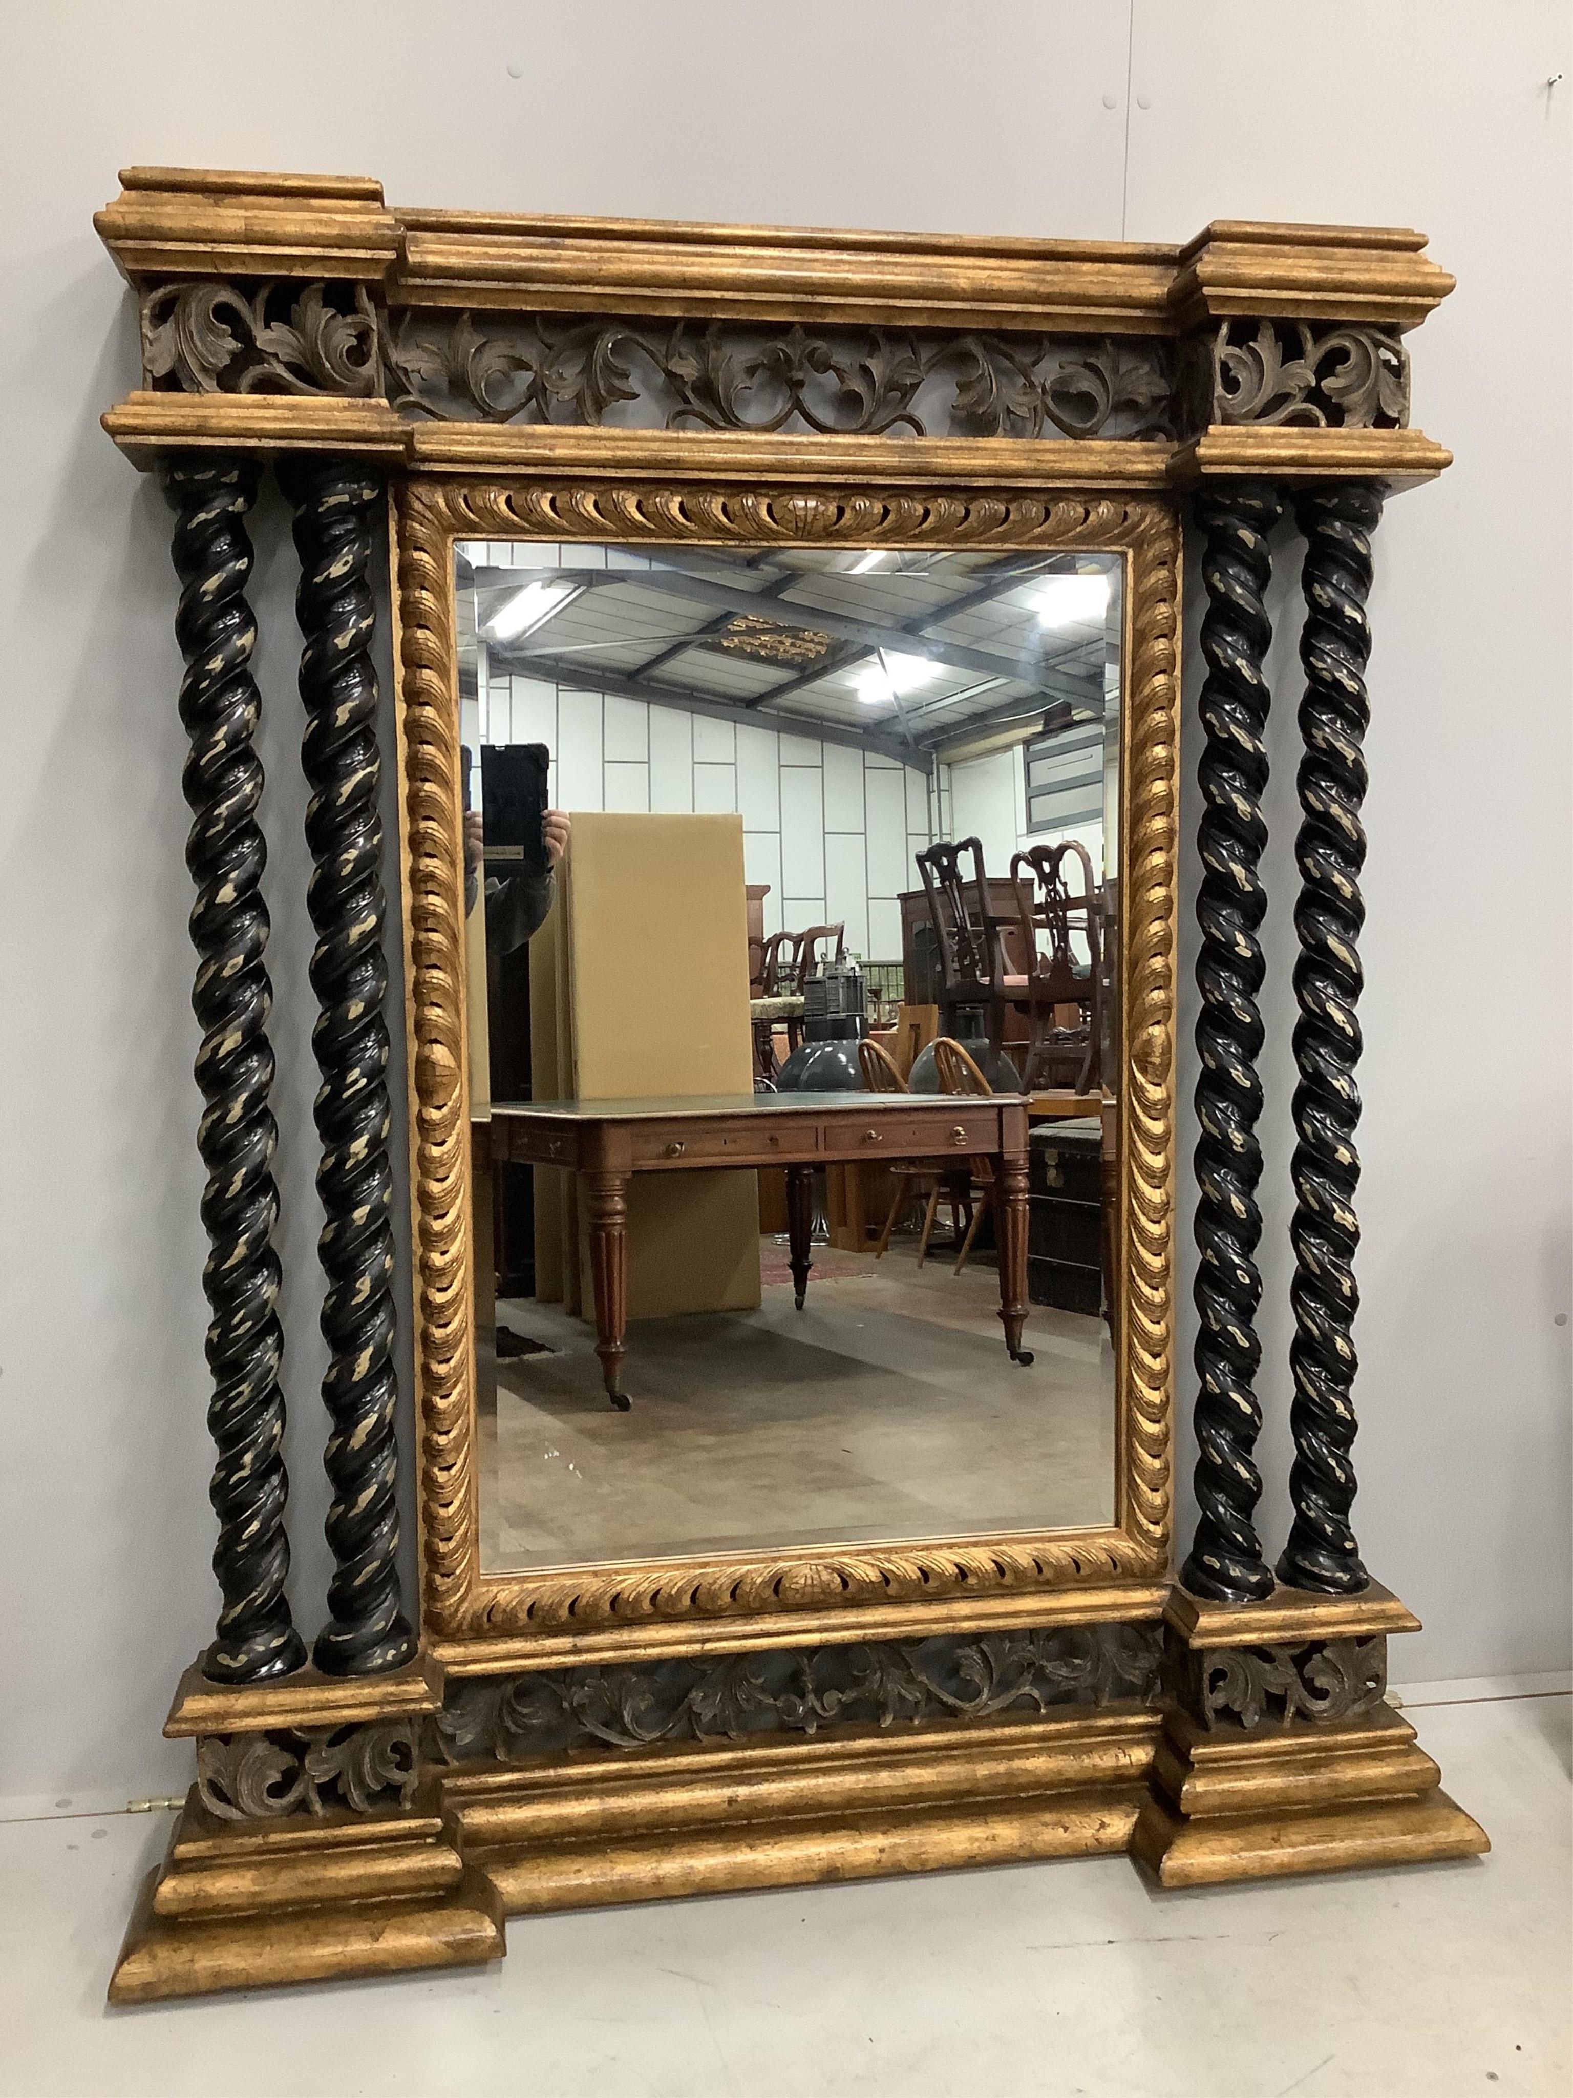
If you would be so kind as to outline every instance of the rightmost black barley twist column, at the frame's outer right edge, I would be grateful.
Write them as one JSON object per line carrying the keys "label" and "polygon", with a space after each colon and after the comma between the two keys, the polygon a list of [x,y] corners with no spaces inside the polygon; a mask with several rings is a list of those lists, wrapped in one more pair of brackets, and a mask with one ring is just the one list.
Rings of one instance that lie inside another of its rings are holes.
{"label": "rightmost black barley twist column, at the frame's outer right edge", "polygon": [[1290,1588],[1357,1594],[1370,1584],[1359,1559],[1349,1511],[1355,1502],[1355,1347],[1351,1328],[1359,1307],[1355,1288],[1355,1185],[1359,1154],[1359,1020],[1361,992],[1357,940],[1365,923],[1359,873],[1365,864],[1365,799],[1361,738],[1370,722],[1365,663],[1372,629],[1365,598],[1372,587],[1372,531],[1382,516],[1374,487],[1313,489],[1294,506],[1305,537],[1305,627],[1300,663],[1307,686],[1300,701],[1300,898],[1294,929],[1300,959],[1294,965],[1294,1341],[1290,1372],[1294,1401],[1294,1467],[1290,1498],[1294,1527],[1277,1563]]}

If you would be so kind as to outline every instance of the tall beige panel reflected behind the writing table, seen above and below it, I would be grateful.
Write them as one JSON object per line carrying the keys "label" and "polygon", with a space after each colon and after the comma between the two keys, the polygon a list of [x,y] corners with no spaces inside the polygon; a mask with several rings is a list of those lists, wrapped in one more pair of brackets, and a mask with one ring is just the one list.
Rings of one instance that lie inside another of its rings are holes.
{"label": "tall beige panel reflected behind the writing table, seen above and below it", "polygon": [[[753,1091],[740,816],[577,814],[564,944],[577,1099]],[[757,1175],[635,1173],[627,1286],[629,1318],[753,1309]]]}

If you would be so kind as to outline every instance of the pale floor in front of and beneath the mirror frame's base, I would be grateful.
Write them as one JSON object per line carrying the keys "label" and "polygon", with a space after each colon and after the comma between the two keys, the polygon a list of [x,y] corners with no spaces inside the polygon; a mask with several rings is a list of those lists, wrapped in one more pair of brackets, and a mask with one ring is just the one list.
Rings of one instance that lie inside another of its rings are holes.
{"label": "pale floor in front of and beneath the mirror frame's base", "polygon": [[1493,1855],[1151,1890],[1124,1859],[510,1924],[474,1974],[107,2012],[168,1819],[0,1825],[4,2098],[1565,2098],[1569,1699],[1409,1716]]}

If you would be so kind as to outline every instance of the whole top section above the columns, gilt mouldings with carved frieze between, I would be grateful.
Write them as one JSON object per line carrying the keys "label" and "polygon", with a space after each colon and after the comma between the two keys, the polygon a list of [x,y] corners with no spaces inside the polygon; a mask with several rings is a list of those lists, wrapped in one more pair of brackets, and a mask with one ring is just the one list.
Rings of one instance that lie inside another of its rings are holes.
{"label": "whole top section above the columns, gilt mouldings with carved frieze between", "polygon": [[122,185],[94,224],[143,386],[105,428],[143,468],[243,447],[526,474],[589,430],[791,434],[799,472],[814,436],[982,436],[1003,478],[1059,489],[1401,489],[1449,462],[1407,426],[1403,336],[1453,279],[1405,229],[1219,220],[1166,248],[390,210],[359,176]]}

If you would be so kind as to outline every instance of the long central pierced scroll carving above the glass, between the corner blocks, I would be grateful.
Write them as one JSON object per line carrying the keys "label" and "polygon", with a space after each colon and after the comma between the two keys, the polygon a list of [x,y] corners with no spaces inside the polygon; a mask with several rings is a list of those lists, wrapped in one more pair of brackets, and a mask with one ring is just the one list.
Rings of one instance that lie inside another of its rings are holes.
{"label": "long central pierced scroll carving above the glass, between the corner blocks", "polygon": [[405,413],[837,436],[1172,436],[1160,338],[946,336],[730,321],[405,315],[384,323]]}

